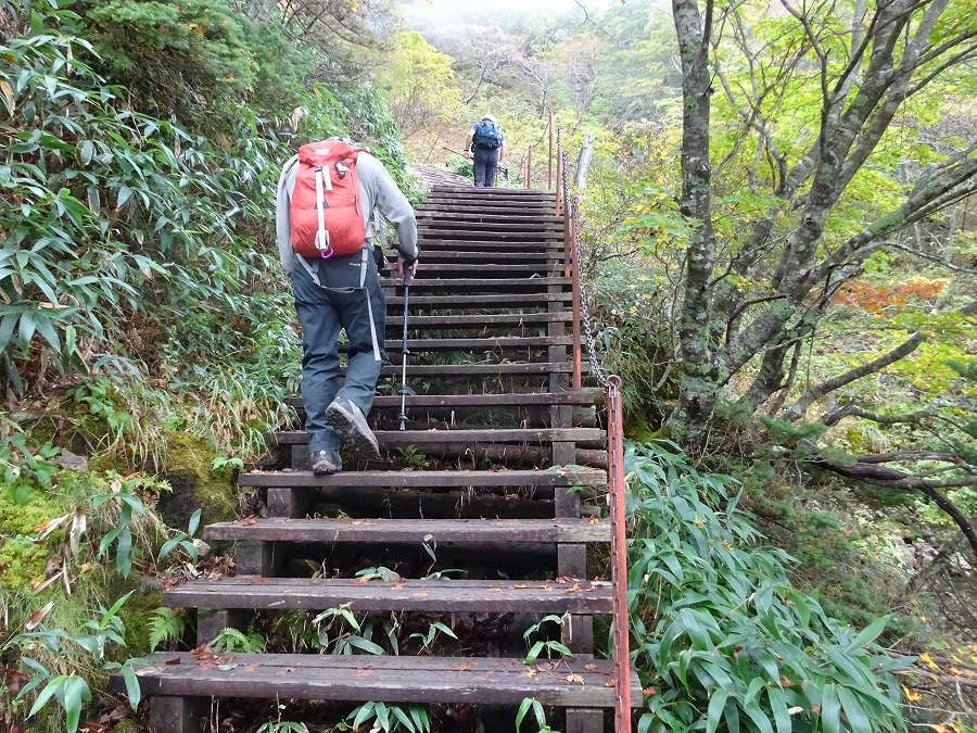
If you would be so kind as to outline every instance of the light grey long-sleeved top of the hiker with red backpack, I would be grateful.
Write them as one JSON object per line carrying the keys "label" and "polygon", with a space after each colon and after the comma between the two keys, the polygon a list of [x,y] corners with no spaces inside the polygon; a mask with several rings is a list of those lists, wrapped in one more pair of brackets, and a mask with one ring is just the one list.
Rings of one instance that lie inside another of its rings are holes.
{"label": "light grey long-sleeved top of the hiker with red backpack", "polygon": [[[299,156],[289,159],[278,179],[277,240],[278,258],[287,275],[295,268],[297,255],[292,251],[292,222],[290,202],[295,188]],[[369,153],[356,156],[356,175],[359,177],[359,200],[363,202],[363,220],[366,226],[368,248],[372,248],[373,230],[370,219],[373,208],[397,228],[397,249],[405,260],[417,260],[417,219],[410,202],[401,193],[383,164]]]}

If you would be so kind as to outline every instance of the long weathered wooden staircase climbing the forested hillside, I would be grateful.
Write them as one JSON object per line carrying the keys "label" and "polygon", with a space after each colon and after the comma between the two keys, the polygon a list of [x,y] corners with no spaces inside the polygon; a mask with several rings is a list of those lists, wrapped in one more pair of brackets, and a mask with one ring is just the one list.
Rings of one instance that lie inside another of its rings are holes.
{"label": "long weathered wooden staircase climbing the forested hillside", "polygon": [[[292,698],[490,706],[478,730],[500,733],[515,730],[526,697],[559,709],[550,724],[564,733],[613,730],[614,664],[594,656],[594,617],[611,612],[612,589],[587,568],[588,545],[606,545],[611,530],[581,517],[580,502],[607,493],[604,392],[571,389],[572,283],[556,208],[551,192],[435,187],[418,208],[408,429],[396,429],[399,366],[385,366],[370,416],[384,462],[347,458],[346,471],[317,477],[305,470],[304,431],[279,433],[282,467],[239,478],[262,516],[205,529],[232,552],[237,574],[164,594],[167,606],[198,609],[201,645],[256,611],[347,605],[357,617],[434,615],[456,628],[495,615],[491,650],[459,633],[442,637],[454,645],[445,656],[155,654],[139,673],[151,730],[202,730],[211,698]],[[398,281],[384,286],[398,363],[404,299]],[[464,573],[364,582],[351,571],[370,558],[422,576],[426,553]],[[524,665],[522,633],[546,614],[564,617],[573,656]],[[633,671],[629,684],[639,702]]]}

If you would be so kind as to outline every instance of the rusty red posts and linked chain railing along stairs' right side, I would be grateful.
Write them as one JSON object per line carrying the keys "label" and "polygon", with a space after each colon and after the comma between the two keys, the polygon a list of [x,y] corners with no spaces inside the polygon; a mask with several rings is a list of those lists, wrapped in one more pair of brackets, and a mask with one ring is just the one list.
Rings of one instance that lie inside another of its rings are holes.
{"label": "rusty red posts and linked chain railing along stairs' right side", "polygon": [[624,410],[621,399],[621,378],[608,375],[597,353],[597,338],[591,317],[589,303],[583,289],[580,227],[583,219],[580,193],[570,194],[569,166],[562,136],[557,130],[557,213],[562,201],[563,271],[569,274],[573,290],[573,389],[580,389],[581,324],[586,340],[591,376],[605,390],[607,401],[607,478],[611,525],[611,585],[613,589],[614,644],[614,733],[631,733],[631,652],[630,614],[627,599],[627,515],[624,503]]}

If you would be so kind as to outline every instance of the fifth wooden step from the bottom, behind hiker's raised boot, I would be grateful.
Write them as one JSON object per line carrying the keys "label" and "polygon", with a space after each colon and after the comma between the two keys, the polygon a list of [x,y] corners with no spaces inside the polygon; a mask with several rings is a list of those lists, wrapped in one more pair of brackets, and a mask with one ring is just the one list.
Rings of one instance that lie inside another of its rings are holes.
{"label": "fifth wooden step from the bottom, behind hiker's raised boot", "polygon": [[[396,397],[399,401],[399,397]],[[397,402],[399,406],[399,402]],[[424,443],[585,443],[607,438],[600,428],[486,428],[482,430],[376,430],[381,445],[423,445]],[[275,433],[279,445],[305,445],[304,430]]]}

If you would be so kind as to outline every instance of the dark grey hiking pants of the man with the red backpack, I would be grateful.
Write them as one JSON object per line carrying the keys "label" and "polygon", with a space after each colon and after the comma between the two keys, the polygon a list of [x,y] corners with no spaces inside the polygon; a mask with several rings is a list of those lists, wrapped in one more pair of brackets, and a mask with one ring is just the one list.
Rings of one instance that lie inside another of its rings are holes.
{"label": "dark grey hiking pants of the man with the red backpack", "polygon": [[[370,247],[369,243],[367,247]],[[302,323],[302,402],[309,453],[340,446],[339,433],[325,419],[326,408],[337,396],[353,402],[364,415],[369,415],[373,404],[381,366],[373,350],[373,333],[380,357],[385,361],[383,333],[386,304],[380,290],[377,261],[372,253],[369,254],[365,261],[359,253],[337,255],[329,260],[306,260],[318,283],[302,261],[295,264],[292,271],[295,311]],[[359,287],[361,277],[363,288]],[[340,374],[340,329],[345,330],[348,344],[345,380]]]}

